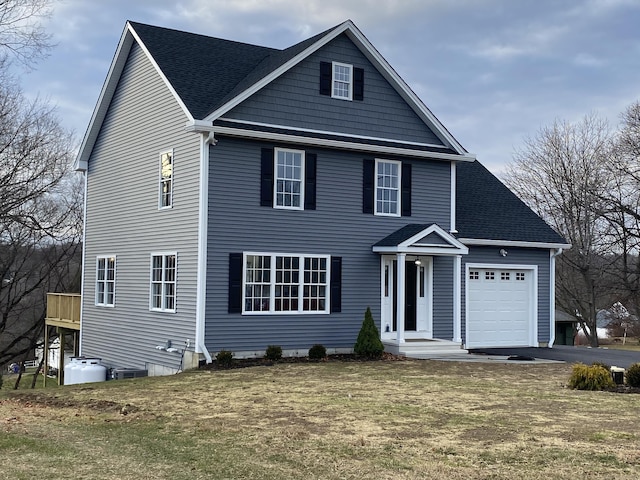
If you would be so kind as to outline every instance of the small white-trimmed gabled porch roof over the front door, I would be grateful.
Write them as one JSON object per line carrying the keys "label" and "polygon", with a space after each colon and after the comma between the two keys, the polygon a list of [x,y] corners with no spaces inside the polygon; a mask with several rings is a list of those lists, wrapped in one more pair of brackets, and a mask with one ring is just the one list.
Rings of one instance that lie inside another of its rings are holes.
{"label": "small white-trimmed gabled porch roof over the front door", "polygon": [[[397,234],[401,231],[402,229],[398,230],[395,233]],[[439,238],[440,241],[431,242],[429,240],[426,240],[427,237],[433,235]],[[391,235],[389,237],[391,237]],[[400,238],[400,241],[397,242],[397,244],[376,244],[373,246],[373,252],[380,254],[406,253],[410,255],[457,256],[466,255],[467,253],[469,253],[469,249],[434,223],[433,225],[430,225],[418,231],[417,233],[411,234],[407,238]]]}

